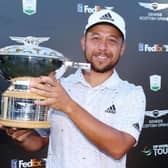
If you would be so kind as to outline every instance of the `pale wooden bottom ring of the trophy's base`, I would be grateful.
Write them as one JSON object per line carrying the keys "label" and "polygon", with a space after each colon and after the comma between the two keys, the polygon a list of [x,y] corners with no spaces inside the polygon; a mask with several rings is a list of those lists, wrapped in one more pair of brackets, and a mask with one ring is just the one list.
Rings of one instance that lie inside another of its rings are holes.
{"label": "pale wooden bottom ring of the trophy's base", "polygon": [[0,124],[6,127],[13,128],[50,128],[51,125],[48,121],[14,121],[0,119]]}

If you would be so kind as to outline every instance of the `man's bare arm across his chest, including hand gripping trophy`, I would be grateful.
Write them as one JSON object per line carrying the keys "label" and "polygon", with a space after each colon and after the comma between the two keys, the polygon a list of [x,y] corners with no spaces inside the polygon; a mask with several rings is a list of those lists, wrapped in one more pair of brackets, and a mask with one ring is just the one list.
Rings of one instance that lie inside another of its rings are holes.
{"label": "man's bare arm across his chest, including hand gripping trophy", "polygon": [[31,82],[31,91],[47,98],[36,104],[48,105],[66,113],[92,143],[115,159],[120,159],[136,142],[131,135],[94,118],[72,100],[59,81],[41,77]]}

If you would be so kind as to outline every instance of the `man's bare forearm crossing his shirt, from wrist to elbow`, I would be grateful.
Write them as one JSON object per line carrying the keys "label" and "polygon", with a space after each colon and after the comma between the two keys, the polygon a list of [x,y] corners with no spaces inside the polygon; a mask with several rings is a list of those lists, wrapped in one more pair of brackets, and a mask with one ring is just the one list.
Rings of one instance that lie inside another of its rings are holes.
{"label": "man's bare forearm crossing his shirt, from wrist to elbow", "polygon": [[92,143],[115,159],[120,159],[136,142],[131,135],[95,119],[75,102],[67,114]]}

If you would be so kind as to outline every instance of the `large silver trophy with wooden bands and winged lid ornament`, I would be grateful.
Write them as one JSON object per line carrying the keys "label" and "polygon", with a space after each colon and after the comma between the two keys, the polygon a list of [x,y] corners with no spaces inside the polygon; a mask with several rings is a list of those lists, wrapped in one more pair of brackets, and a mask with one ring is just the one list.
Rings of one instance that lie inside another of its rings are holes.
{"label": "large silver trophy with wooden bands and winged lid ornament", "polygon": [[0,49],[0,70],[11,82],[2,94],[0,124],[18,128],[49,128],[48,107],[35,105],[35,100],[44,97],[30,93],[32,77],[48,75],[55,71],[61,78],[68,67],[90,69],[90,64],[70,61],[62,53],[39,44],[49,37],[10,37],[23,43]]}

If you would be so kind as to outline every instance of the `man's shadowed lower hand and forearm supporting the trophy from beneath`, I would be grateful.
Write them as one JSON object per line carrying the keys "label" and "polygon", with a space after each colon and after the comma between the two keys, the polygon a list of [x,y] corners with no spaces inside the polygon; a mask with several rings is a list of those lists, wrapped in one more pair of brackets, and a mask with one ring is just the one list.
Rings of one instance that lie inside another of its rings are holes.
{"label": "man's shadowed lower hand and forearm supporting the trophy from beneath", "polygon": [[41,137],[34,130],[3,126],[0,126],[0,128],[28,152],[38,151],[48,144],[48,137]]}

